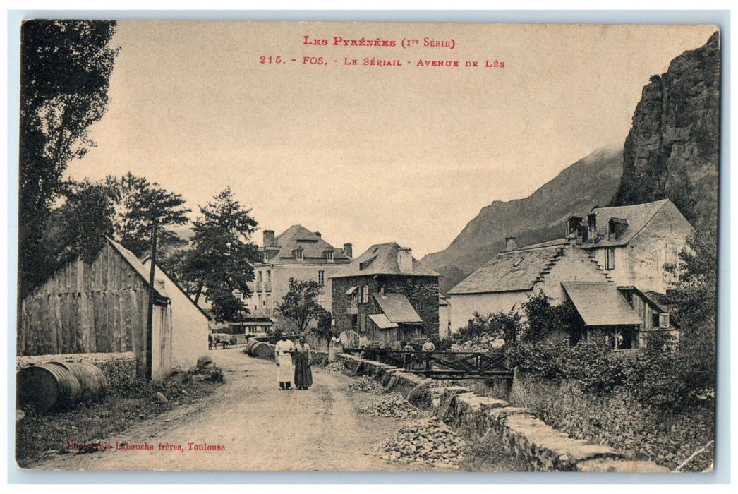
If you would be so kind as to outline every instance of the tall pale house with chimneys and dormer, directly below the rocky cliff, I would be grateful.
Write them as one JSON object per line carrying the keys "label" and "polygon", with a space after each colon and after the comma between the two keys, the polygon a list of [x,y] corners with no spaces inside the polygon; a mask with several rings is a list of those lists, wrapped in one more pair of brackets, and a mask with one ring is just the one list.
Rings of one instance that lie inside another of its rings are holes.
{"label": "tall pale house with chimneys and dormer, directly below the rocky cliff", "polygon": [[663,294],[673,281],[663,264],[677,260],[693,232],[674,203],[663,199],[594,207],[586,218],[570,217],[566,233],[607,270],[615,284]]}

